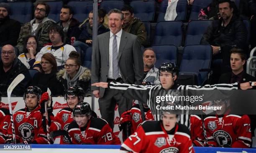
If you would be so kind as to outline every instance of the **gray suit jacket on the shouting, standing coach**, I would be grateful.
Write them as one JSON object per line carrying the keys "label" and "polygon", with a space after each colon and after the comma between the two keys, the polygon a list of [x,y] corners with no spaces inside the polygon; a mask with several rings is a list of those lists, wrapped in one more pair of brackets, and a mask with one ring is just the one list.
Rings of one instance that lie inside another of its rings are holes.
{"label": "gray suit jacket on the shouting, standing coach", "polygon": [[[92,77],[91,82],[107,82],[110,32],[97,36],[96,47],[92,51]],[[141,45],[137,36],[122,32],[119,50],[118,66],[124,82],[128,84],[141,84],[143,81],[143,58]],[[92,87],[100,90],[103,97],[105,88]]]}

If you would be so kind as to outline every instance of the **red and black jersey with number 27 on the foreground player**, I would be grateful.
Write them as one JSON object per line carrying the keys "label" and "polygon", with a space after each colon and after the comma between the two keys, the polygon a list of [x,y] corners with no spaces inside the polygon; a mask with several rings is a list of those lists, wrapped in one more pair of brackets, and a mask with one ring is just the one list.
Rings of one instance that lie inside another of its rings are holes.
{"label": "red and black jersey with number 27 on the foreground player", "polygon": [[177,124],[166,132],[161,121],[145,121],[121,145],[121,152],[134,153],[194,153],[189,130]]}

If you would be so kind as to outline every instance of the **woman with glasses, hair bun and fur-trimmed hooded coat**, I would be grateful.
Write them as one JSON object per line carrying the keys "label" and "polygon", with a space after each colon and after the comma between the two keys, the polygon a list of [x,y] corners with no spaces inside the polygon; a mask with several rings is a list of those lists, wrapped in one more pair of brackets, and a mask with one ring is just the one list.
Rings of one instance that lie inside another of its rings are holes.
{"label": "woman with glasses, hair bun and fur-trimmed hooded coat", "polygon": [[67,59],[64,67],[65,69],[62,69],[57,73],[57,79],[61,81],[65,90],[77,85],[82,87],[85,96],[89,96],[91,94],[91,71],[86,67],[81,66],[81,60],[76,51],[72,51],[69,54],[69,59]]}

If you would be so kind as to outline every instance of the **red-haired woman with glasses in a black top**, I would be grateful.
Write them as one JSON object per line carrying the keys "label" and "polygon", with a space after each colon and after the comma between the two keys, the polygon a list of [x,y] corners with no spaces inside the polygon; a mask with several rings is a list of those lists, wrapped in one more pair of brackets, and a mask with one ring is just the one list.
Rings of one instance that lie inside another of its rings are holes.
{"label": "red-haired woman with glasses in a black top", "polygon": [[41,72],[34,75],[31,84],[39,87],[42,92],[47,92],[49,88],[53,97],[64,96],[64,88],[56,78],[57,63],[53,54],[46,53],[42,56],[40,70]]}

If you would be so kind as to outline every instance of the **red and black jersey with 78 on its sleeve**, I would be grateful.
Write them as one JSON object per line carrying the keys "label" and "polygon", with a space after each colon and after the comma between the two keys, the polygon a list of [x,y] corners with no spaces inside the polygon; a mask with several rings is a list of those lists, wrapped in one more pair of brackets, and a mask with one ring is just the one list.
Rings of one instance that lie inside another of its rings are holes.
{"label": "red and black jersey with 78 on its sleeve", "polygon": [[92,117],[86,127],[79,127],[76,121],[70,123],[68,127],[72,144],[92,144],[92,145],[120,145],[121,142],[116,137],[108,122],[101,118]]}

